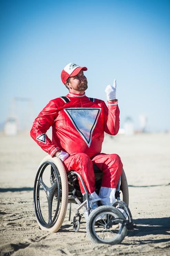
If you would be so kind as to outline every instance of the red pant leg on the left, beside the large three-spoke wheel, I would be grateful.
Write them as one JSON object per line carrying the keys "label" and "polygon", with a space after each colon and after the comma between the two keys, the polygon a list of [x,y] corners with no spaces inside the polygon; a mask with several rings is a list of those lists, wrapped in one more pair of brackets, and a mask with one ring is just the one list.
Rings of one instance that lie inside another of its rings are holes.
{"label": "red pant leg on the left, beside the large three-spoke wheel", "polygon": [[[95,191],[95,175],[93,170],[93,164],[89,156],[84,153],[69,156],[63,162],[66,172],[76,171],[78,172],[86,185],[88,193]],[[82,183],[79,181],[80,189],[82,193],[85,193]]]}

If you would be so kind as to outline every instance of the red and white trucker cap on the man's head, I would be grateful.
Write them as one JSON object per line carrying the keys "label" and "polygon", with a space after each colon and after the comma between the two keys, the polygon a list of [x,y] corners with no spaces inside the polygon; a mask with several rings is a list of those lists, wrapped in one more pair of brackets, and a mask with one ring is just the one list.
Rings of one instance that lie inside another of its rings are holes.
{"label": "red and white trucker cap on the man's head", "polygon": [[81,67],[75,63],[67,64],[61,72],[61,80],[63,84],[65,84],[68,77],[77,75],[81,70],[86,71],[87,67]]}

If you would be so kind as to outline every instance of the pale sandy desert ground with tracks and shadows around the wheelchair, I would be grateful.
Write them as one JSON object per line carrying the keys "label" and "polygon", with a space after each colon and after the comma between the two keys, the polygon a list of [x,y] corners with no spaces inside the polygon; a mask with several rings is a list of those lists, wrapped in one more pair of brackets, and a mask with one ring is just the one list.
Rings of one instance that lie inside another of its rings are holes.
{"label": "pale sandy desert ground with tracks and shadows around the wheelchair", "polygon": [[170,255],[170,134],[105,137],[103,152],[119,154],[124,163],[129,208],[137,223],[137,229],[114,246],[91,243],[84,218],[74,232],[68,211],[57,233],[40,230],[33,184],[46,153],[29,135],[0,135],[0,141],[2,255]]}

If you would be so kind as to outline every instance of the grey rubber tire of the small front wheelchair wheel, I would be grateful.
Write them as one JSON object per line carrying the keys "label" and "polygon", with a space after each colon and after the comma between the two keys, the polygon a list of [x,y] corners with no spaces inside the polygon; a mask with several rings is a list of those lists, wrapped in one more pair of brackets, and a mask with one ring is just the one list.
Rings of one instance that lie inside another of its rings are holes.
{"label": "grey rubber tire of the small front wheelchair wheel", "polygon": [[87,223],[86,223],[86,232],[87,237],[89,240],[91,240],[93,243],[102,243],[102,244],[110,244],[115,245],[121,243],[121,241],[125,238],[127,235],[127,228],[124,226],[121,230],[120,234],[117,234],[116,237],[113,240],[105,241],[101,238],[99,238],[94,231],[94,225],[95,225],[95,218],[102,214],[107,213],[114,213],[114,216],[116,218],[125,219],[124,215],[115,207],[109,206],[109,205],[102,205],[97,207],[95,210],[93,210],[90,215],[88,216]]}

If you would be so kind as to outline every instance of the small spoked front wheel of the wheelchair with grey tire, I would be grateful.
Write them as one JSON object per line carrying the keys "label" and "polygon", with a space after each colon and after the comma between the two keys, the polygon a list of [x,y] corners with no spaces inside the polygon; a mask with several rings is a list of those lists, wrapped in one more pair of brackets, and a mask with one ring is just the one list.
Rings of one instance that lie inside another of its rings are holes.
{"label": "small spoked front wheel of the wheelchair with grey tire", "polygon": [[[110,228],[106,228],[107,224],[114,219],[117,219],[115,220],[116,223]],[[97,207],[88,216],[86,223],[87,236],[93,243],[109,245],[121,243],[127,235],[127,228],[121,224],[124,219],[123,214],[113,206],[102,205]]]}

